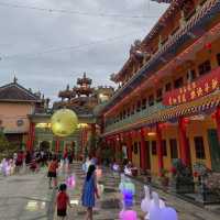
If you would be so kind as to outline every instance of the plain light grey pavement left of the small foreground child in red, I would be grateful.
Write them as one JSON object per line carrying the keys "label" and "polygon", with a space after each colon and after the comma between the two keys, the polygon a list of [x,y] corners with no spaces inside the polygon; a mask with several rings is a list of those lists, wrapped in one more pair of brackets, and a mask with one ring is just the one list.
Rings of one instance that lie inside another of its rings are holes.
{"label": "plain light grey pavement left of the small foreground child in red", "polygon": [[[55,190],[48,189],[46,168],[37,174],[0,176],[1,220],[47,220]],[[52,219],[52,218],[51,218]]]}

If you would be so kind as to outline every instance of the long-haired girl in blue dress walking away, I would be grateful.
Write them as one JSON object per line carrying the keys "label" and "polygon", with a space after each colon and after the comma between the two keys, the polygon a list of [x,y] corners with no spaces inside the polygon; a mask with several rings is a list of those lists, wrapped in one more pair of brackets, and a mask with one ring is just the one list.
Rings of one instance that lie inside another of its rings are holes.
{"label": "long-haired girl in blue dress walking away", "polygon": [[92,208],[95,207],[95,195],[99,198],[97,190],[96,166],[90,165],[82,188],[82,206],[87,208],[86,220],[92,220]]}

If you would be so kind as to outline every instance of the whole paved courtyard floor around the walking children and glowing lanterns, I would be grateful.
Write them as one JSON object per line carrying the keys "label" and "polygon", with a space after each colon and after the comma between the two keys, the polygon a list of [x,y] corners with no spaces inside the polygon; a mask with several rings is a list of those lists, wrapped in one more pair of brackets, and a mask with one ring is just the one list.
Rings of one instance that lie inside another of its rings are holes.
{"label": "whole paved courtyard floor around the walking children and glowing lanterns", "polygon": [[[80,205],[81,186],[85,175],[81,165],[74,163],[69,174],[59,174],[59,183],[65,182],[68,175],[76,175],[76,187],[69,188],[73,208],[68,210],[68,219],[85,219],[86,210]],[[109,170],[103,170],[100,184],[105,186],[101,198],[97,201],[95,218],[97,220],[118,219],[121,210],[120,195],[118,186],[119,175]],[[46,169],[43,168],[37,174],[20,174],[9,177],[0,176],[0,220],[56,220],[54,212],[55,190],[50,190],[47,186]],[[139,218],[143,219],[140,204],[143,198],[143,185],[134,183],[136,196],[134,210]],[[219,220],[219,216],[194,206],[187,201],[157,190],[160,196],[166,201],[167,206],[176,208],[179,220]]]}

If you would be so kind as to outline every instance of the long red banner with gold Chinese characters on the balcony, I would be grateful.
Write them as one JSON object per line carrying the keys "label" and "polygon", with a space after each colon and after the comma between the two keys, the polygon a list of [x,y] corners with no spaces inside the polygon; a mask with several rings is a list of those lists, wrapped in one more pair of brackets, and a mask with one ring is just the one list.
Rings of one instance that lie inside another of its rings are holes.
{"label": "long red banner with gold Chinese characters on the balcony", "polygon": [[163,103],[177,106],[204,97],[217,89],[220,89],[220,67],[185,87],[164,94]]}

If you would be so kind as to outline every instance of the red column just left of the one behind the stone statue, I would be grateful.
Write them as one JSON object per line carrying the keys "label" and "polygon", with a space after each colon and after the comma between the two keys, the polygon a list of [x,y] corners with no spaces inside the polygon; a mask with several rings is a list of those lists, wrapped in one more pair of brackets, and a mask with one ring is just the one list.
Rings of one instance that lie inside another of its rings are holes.
{"label": "red column just left of the one behind the stone statue", "polygon": [[156,151],[158,157],[158,173],[161,175],[162,169],[164,168],[164,161],[163,161],[163,144],[162,144],[162,129],[160,125],[156,125]]}

